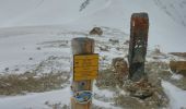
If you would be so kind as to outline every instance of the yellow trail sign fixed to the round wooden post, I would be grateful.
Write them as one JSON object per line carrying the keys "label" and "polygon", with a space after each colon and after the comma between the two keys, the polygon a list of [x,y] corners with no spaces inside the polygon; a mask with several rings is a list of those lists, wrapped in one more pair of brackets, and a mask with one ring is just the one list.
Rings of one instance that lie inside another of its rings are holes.
{"label": "yellow trail sign fixed to the round wooden post", "polygon": [[73,56],[73,80],[94,80],[98,74],[98,55]]}

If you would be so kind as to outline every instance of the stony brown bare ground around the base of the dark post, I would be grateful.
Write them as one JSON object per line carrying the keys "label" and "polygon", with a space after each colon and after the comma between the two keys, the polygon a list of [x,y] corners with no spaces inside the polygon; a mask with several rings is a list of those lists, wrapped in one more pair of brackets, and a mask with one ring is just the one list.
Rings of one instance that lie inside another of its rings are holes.
{"label": "stony brown bare ground around the base of the dark post", "polygon": [[[114,101],[117,107],[126,109],[162,109],[168,107],[168,98],[161,86],[161,78],[171,77],[168,64],[165,62],[150,62],[146,65],[147,82],[131,82],[117,77],[113,69],[100,72],[96,86],[101,89],[115,92]],[[162,74],[160,74],[162,72]],[[125,92],[125,93],[121,93]]]}

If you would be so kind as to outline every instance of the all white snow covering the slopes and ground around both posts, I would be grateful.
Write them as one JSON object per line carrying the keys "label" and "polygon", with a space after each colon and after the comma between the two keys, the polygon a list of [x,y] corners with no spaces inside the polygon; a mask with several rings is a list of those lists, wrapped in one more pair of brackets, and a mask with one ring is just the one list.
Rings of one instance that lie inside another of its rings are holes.
{"label": "all white snow covering the slopes and ground around both posts", "polygon": [[[149,56],[155,45],[164,52],[186,51],[186,1],[185,0],[90,0],[82,10],[83,0],[0,0],[0,75],[24,73],[43,64],[39,73],[50,71],[70,72],[71,39],[90,37],[96,40],[95,52],[100,53],[101,69],[107,68],[115,57],[126,58],[129,39],[130,15],[133,12],[149,12]],[[101,26],[103,36],[89,36],[93,26]],[[109,39],[118,40],[113,44]],[[100,47],[108,48],[102,51]],[[57,59],[49,60],[50,57]],[[168,62],[179,59],[168,56],[160,60]],[[185,60],[185,59],[183,59]],[[24,96],[0,97],[0,109],[51,109],[49,104],[69,105],[70,84],[67,87]],[[171,108],[186,108],[185,90],[163,82],[165,93],[171,99]],[[112,93],[98,90],[108,98]],[[176,95],[176,96],[175,96]],[[181,99],[179,99],[181,98]],[[111,104],[93,99],[93,104],[114,108]]]}

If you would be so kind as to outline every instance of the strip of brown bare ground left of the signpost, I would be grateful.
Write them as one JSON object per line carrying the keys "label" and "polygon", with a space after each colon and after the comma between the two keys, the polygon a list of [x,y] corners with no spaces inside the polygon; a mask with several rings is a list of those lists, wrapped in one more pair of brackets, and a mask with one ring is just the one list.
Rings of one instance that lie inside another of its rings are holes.
{"label": "strip of brown bare ground left of the signpost", "polygon": [[0,95],[18,95],[25,93],[40,93],[51,89],[59,89],[67,83],[69,76],[65,72],[36,73],[25,72],[24,74],[4,74],[0,76]]}

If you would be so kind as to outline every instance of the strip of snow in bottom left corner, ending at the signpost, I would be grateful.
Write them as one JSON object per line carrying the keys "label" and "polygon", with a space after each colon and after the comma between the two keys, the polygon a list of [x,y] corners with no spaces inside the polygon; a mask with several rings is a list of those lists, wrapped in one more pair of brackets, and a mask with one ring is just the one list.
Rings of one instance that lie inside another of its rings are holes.
{"label": "strip of snow in bottom left corner, ending at the signpost", "polygon": [[4,97],[0,99],[1,109],[50,109],[45,105],[49,104],[69,105],[70,104],[70,88],[66,87],[60,90],[53,90],[46,93],[28,94],[25,96]]}

